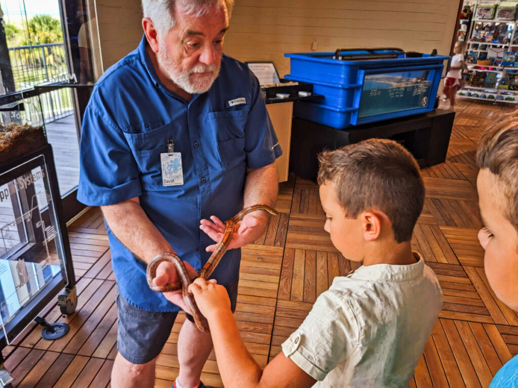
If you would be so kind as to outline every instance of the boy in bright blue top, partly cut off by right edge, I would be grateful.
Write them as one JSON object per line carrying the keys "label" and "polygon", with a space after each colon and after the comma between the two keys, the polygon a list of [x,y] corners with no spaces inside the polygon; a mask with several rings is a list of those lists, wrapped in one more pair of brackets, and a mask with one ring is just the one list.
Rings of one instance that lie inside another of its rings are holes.
{"label": "boy in bright blue top, partly cut off by right edge", "polygon": [[[496,296],[518,311],[518,118],[482,136],[477,152],[484,270]],[[518,356],[496,373],[490,388],[518,387]]]}

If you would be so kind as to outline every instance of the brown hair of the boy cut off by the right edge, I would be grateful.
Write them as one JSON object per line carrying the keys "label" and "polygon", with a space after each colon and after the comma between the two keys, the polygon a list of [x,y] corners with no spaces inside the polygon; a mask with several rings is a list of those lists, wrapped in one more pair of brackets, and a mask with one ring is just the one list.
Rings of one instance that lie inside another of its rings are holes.
{"label": "brown hair of the boy cut off by the right edge", "polygon": [[506,118],[483,133],[477,164],[496,175],[502,213],[518,231],[518,117]]}

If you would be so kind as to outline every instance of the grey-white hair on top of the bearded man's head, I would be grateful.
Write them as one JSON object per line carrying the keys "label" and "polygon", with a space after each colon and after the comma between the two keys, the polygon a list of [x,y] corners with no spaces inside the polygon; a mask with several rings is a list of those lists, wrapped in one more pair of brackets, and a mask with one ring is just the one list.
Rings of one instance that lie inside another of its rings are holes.
{"label": "grey-white hair on top of the bearded man's head", "polygon": [[175,26],[175,6],[178,12],[195,18],[224,6],[230,18],[234,0],[142,0],[142,14],[150,18],[156,31],[162,34]]}

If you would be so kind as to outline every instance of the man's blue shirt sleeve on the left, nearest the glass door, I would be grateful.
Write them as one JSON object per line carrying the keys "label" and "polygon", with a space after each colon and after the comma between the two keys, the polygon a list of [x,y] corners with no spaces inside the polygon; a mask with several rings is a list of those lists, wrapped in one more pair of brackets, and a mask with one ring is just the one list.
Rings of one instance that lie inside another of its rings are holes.
{"label": "man's blue shirt sleeve on the left, nearest the glass door", "polygon": [[112,205],[142,193],[138,168],[122,131],[109,120],[96,91],[84,112],[77,200]]}

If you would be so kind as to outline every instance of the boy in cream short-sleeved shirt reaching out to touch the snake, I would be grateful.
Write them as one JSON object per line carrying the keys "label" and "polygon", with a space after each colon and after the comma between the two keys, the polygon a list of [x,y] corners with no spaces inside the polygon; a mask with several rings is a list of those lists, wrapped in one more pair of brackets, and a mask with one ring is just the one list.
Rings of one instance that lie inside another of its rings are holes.
{"label": "boy in cream short-sleeved shirt reaching out to touch the snake", "polygon": [[408,387],[437,320],[439,282],[410,244],[425,192],[415,159],[379,139],[319,159],[324,229],[363,265],[335,277],[264,370],[243,345],[225,289],[196,279],[190,291],[227,388]]}

